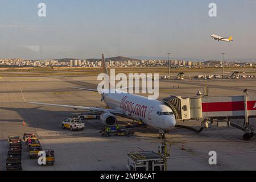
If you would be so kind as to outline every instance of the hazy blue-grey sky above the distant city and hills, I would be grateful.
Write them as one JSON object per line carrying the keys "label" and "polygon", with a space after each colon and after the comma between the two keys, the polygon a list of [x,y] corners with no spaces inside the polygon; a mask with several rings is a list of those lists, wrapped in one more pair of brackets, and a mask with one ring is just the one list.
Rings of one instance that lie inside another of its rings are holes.
{"label": "hazy blue-grey sky above the distant city and hills", "polygon": [[[38,4],[46,3],[46,17]],[[217,17],[208,15],[217,4]],[[0,0],[0,57],[166,56],[256,60],[256,1]],[[233,36],[217,42],[210,34]]]}

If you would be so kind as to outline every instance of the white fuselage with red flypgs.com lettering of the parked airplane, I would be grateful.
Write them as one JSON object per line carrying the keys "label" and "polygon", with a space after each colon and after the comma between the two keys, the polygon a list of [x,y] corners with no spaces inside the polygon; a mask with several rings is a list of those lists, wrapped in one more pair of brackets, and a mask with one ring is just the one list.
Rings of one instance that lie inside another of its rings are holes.
{"label": "white fuselage with red flypgs.com lettering of the parked airplane", "polygon": [[103,100],[110,109],[125,110],[130,118],[156,129],[169,130],[176,125],[171,108],[158,100],[126,92],[105,93]]}

